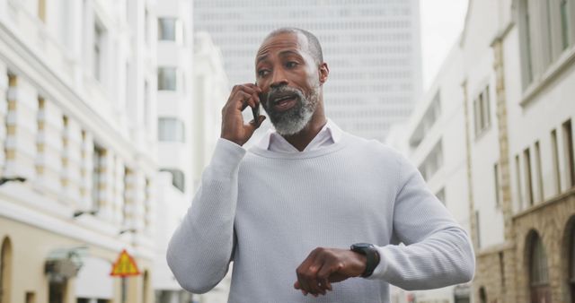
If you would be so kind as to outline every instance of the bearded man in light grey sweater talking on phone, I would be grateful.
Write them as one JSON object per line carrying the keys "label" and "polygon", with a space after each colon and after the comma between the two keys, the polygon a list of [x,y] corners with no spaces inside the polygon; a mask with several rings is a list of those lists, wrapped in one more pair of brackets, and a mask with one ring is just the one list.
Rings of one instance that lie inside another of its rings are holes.
{"label": "bearded man in light grey sweater talking on phone", "polygon": [[[231,261],[229,302],[389,302],[389,283],[470,281],[469,238],[417,169],[325,117],[329,69],[314,35],[275,30],[255,59],[256,84],[234,86],[213,159],[168,247],[181,286],[211,290]],[[264,117],[244,124],[242,111],[260,103],[276,132],[246,151]]]}

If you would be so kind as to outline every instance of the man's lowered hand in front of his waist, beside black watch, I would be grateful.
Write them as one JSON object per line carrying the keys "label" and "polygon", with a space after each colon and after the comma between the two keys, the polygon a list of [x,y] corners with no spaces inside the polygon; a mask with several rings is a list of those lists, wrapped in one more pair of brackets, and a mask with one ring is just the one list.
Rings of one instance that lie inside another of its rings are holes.
{"label": "man's lowered hand in front of his waist, beside black watch", "polygon": [[358,277],[366,270],[367,258],[349,249],[315,248],[297,267],[296,290],[304,295],[325,295],[332,282]]}

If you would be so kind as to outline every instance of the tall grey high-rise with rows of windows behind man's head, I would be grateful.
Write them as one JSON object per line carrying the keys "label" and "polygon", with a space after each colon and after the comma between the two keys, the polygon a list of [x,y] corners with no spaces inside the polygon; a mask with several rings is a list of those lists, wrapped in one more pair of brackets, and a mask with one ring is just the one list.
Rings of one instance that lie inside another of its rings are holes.
{"label": "tall grey high-rise with rows of windows behind man's head", "polygon": [[292,26],[320,39],[330,80],[329,117],[342,129],[384,140],[420,98],[418,0],[196,0],[195,30],[222,48],[230,84],[255,81],[254,57],[274,29]]}

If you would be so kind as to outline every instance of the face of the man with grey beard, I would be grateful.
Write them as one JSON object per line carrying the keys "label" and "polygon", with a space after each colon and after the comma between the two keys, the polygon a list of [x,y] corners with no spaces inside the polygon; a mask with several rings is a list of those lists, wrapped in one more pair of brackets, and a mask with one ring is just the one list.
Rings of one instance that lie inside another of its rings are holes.
{"label": "face of the man with grey beard", "polygon": [[276,131],[297,134],[309,123],[319,102],[318,65],[303,34],[281,33],[266,39],[256,56],[261,105]]}

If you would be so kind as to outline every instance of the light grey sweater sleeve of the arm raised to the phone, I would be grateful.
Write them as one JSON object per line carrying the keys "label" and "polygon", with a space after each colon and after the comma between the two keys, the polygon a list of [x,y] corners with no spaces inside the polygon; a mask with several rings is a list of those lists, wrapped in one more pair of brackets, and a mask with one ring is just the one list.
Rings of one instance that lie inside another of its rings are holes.
{"label": "light grey sweater sleeve of the arm raised to the phone", "polygon": [[234,251],[238,169],[245,153],[235,143],[218,140],[199,191],[173,233],[167,262],[185,290],[204,293],[227,273]]}

